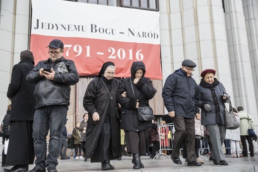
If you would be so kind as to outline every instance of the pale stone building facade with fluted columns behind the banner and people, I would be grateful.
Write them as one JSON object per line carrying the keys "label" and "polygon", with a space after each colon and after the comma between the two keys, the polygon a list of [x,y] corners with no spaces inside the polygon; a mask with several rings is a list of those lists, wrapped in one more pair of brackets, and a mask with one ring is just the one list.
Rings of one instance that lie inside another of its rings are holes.
{"label": "pale stone building facade with fluted columns behind the banner and people", "polygon": [[[112,0],[111,5],[145,10],[151,4],[150,8],[160,13],[163,80],[153,81],[158,90],[150,102],[155,114],[167,114],[161,97],[166,78],[184,59],[191,59],[197,64],[193,73],[196,83],[201,71],[215,69],[215,77],[225,86],[233,106],[243,106],[258,125],[258,0],[146,1],[149,3],[143,8],[131,0]],[[12,67],[19,62],[20,52],[30,48],[31,10],[31,0],[0,0],[0,120],[10,103],[6,92]],[[80,78],[72,86],[68,130],[82,120],[82,98],[91,79]]]}

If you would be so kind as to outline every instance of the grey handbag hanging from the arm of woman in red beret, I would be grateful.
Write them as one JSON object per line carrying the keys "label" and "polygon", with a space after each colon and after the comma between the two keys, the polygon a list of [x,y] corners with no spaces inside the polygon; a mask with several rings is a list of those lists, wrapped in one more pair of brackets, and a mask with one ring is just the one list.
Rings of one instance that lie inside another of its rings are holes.
{"label": "grey handbag hanging from the arm of woman in red beret", "polygon": [[229,111],[226,108],[225,103],[223,103],[223,105],[224,105],[224,116],[225,116],[225,126],[226,126],[226,129],[229,129],[229,130],[237,129],[240,126],[240,124],[237,121],[236,116],[232,112],[231,101],[229,101]]}

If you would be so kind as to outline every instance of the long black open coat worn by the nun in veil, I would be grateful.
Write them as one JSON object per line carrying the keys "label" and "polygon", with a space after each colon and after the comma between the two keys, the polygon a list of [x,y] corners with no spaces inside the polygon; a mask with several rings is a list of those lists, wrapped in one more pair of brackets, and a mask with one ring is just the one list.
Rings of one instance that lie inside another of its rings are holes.
{"label": "long black open coat worn by the nun in veil", "polygon": [[[109,92],[113,97],[112,100],[116,107],[114,107],[114,104],[111,101],[101,78],[109,89]],[[117,79],[113,78],[108,80],[103,75],[101,75],[100,77],[93,79],[85,91],[83,107],[89,115],[87,131],[85,135],[86,157],[91,158],[94,154],[105,120],[109,120],[111,126],[110,148],[112,149],[113,157],[117,157],[120,153],[120,120],[117,118],[116,110],[118,107],[116,92],[119,85],[120,83]],[[92,115],[94,112],[98,112],[100,116],[99,121],[93,121]],[[110,158],[113,159],[113,157]]]}

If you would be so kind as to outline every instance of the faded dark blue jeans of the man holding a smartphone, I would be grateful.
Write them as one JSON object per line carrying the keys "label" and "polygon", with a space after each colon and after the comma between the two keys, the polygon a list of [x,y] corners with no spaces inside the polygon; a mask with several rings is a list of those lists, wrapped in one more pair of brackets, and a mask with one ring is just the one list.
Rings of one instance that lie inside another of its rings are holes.
{"label": "faded dark blue jeans of the man holding a smartphone", "polygon": [[[33,142],[35,164],[40,169],[56,167],[61,149],[62,131],[65,125],[67,108],[65,105],[43,106],[35,110],[33,122]],[[47,135],[49,154],[47,156]]]}

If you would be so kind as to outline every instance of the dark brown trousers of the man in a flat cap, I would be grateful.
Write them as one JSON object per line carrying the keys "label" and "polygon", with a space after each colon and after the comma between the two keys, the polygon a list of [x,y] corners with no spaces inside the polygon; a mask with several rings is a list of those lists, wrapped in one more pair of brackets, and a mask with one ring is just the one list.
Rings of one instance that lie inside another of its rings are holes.
{"label": "dark brown trousers of the man in a flat cap", "polygon": [[175,116],[172,118],[175,126],[173,150],[171,157],[179,157],[180,148],[185,139],[185,145],[187,148],[187,158],[189,162],[196,161],[195,149],[194,149],[194,118],[185,118],[183,116]]}

